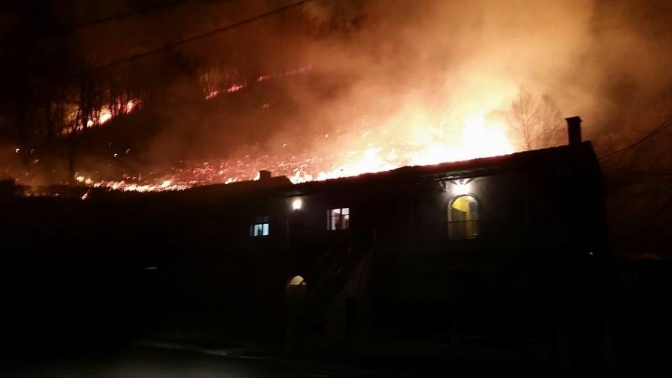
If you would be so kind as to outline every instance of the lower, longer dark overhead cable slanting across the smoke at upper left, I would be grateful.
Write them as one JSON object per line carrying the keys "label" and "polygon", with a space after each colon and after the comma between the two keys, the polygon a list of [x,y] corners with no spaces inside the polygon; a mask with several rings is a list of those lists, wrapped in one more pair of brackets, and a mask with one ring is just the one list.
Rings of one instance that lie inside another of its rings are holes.
{"label": "lower, longer dark overhead cable slanting across the smoke at upper left", "polygon": [[197,41],[197,40],[200,40],[200,39],[203,39],[203,38],[207,38],[209,36],[214,36],[215,34],[222,33],[223,31],[227,31],[228,29],[233,29],[235,27],[250,24],[250,23],[255,22],[257,20],[260,20],[262,18],[267,18],[268,16],[274,15],[275,13],[281,13],[281,12],[284,12],[286,10],[290,10],[292,8],[298,8],[298,7],[302,6],[304,3],[308,3],[309,1],[312,1],[312,0],[301,0],[301,1],[297,1],[295,3],[290,3],[289,5],[281,6],[280,8],[276,8],[274,10],[269,10],[266,13],[256,15],[253,18],[246,18],[245,20],[235,22],[235,23],[230,24],[230,25],[226,25],[225,27],[214,29],[213,31],[208,31],[207,33],[204,33],[204,34],[198,34],[196,36],[192,36],[192,37],[189,37],[189,38],[184,38],[184,39],[181,39],[180,41],[176,41],[174,43],[169,43],[167,45],[163,45],[163,46],[161,46],[159,48],[155,48],[153,50],[147,50],[145,52],[140,52],[138,54],[130,55],[129,57],[124,57],[122,59],[113,60],[112,62],[108,62],[106,64],[102,64],[102,65],[99,65],[99,66],[94,66],[94,67],[91,67],[90,69],[83,69],[81,71],[71,73],[70,75],[64,76],[63,78],[60,78],[57,81],[69,80],[71,78],[76,78],[78,76],[82,76],[82,75],[85,75],[87,73],[100,71],[102,69],[106,69],[106,68],[109,68],[111,66],[116,66],[118,64],[122,64],[122,63],[125,63],[125,62],[130,62],[130,61],[135,60],[135,59],[139,59],[139,58],[142,58],[142,57],[147,57],[149,55],[153,55],[157,52],[162,52],[162,51],[165,51],[165,50],[169,50],[169,49],[175,48],[179,45],[184,45],[186,43],[190,43],[190,42]]}

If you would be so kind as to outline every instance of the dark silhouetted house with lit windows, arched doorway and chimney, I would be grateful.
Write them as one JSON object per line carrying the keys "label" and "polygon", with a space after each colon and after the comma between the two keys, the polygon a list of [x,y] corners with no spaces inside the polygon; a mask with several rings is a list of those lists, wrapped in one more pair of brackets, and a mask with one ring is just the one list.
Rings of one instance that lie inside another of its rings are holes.
{"label": "dark silhouetted house with lit windows, arched doorway and chimney", "polygon": [[328,181],[262,171],[177,193],[92,193],[63,207],[72,222],[58,232],[85,235],[81,255],[94,245],[106,264],[137,267],[125,285],[139,301],[249,310],[238,322],[293,347],[414,339],[588,356],[604,188],[580,118],[568,134],[566,146]]}

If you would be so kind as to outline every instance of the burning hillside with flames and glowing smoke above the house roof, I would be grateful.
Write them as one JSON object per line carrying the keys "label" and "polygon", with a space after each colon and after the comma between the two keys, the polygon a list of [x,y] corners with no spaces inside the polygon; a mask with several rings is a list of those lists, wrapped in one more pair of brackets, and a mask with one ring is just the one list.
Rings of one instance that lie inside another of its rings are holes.
{"label": "burning hillside with flames and glowing smoke above the house roof", "polygon": [[323,180],[563,144],[573,114],[600,148],[635,117],[657,123],[671,93],[672,60],[652,59],[667,24],[636,1],[292,4],[176,3],[30,54],[6,38],[4,176],[136,191],[260,169]]}

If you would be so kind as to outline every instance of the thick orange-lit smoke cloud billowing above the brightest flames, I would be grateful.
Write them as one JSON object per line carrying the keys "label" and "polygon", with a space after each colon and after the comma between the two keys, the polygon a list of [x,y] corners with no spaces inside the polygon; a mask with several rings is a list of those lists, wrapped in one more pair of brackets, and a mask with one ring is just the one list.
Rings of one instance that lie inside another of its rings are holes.
{"label": "thick orange-lit smoke cloud billowing above the brightest flames", "polygon": [[[250,77],[310,66],[307,73],[274,83],[243,78],[248,87],[225,100],[234,109],[172,123],[181,132],[190,125],[189,133],[197,125],[200,152],[262,141],[274,153],[298,141],[306,147],[299,138],[306,136],[310,150],[330,154],[377,143],[362,137],[374,131],[387,140],[457,139],[472,114],[505,117],[523,87],[554,99],[562,116],[580,114],[587,137],[624,132],[627,139],[626,130],[646,130],[665,116],[672,59],[664,55],[672,44],[660,15],[669,7],[315,1],[234,31],[225,44],[242,60],[232,66]],[[332,139],[314,140],[318,134]],[[158,141],[184,138],[168,133]]]}

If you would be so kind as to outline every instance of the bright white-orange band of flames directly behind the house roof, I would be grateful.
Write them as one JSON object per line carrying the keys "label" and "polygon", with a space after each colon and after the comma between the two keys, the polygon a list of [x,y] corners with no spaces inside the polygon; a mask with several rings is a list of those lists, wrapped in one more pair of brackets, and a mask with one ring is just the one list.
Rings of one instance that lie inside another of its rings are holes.
{"label": "bright white-orange band of flames directly behind the house roof", "polygon": [[[329,135],[325,134],[324,139],[328,138]],[[189,168],[174,169],[155,183],[94,182],[90,177],[81,175],[76,180],[95,188],[156,192],[258,179],[260,169],[269,169],[274,174],[287,176],[293,183],[302,183],[383,172],[406,165],[431,165],[514,152],[505,127],[487,121],[484,113],[466,118],[461,134],[452,142],[437,138],[435,132],[428,130],[414,132],[414,139],[405,144],[386,140],[376,132],[365,132],[360,135],[360,139],[366,142],[363,148],[352,148],[331,155],[274,154],[252,158],[249,153],[241,153],[238,159],[202,162]]]}

